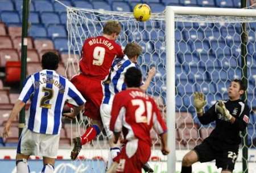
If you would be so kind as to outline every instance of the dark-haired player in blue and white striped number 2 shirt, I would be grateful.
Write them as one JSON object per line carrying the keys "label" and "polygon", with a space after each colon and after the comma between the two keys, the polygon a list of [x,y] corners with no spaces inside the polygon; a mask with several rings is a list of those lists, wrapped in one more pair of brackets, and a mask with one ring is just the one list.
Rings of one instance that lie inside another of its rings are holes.
{"label": "dark-haired player in blue and white striped number 2 shirt", "polygon": [[72,113],[67,113],[68,117],[75,117],[84,107],[85,99],[76,87],[68,79],[56,73],[58,64],[59,56],[57,54],[47,52],[42,56],[43,70],[26,79],[19,99],[6,123],[3,137],[8,136],[11,122],[26,105],[28,99],[31,99],[26,125],[22,130],[17,147],[18,173],[29,172],[26,160],[30,155],[43,157],[42,172],[53,172],[59,148],[64,104],[68,102],[75,106]]}

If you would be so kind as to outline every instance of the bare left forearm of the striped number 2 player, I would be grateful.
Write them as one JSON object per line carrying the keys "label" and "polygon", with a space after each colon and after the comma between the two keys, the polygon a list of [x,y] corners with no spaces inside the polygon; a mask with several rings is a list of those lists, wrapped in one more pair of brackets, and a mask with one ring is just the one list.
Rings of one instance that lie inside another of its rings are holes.
{"label": "bare left forearm of the striped number 2 player", "polygon": [[2,136],[4,138],[8,137],[8,132],[10,130],[11,123],[15,119],[15,117],[18,115],[20,110],[26,105],[26,103],[22,102],[21,100],[17,100],[14,104],[14,108],[11,111],[10,117],[7,120],[7,123],[5,124],[5,128],[3,129],[3,134]]}

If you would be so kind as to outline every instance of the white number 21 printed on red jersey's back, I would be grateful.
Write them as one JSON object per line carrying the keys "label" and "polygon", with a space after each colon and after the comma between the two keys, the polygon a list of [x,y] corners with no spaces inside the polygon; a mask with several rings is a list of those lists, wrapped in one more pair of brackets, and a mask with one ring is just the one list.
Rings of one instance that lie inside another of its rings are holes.
{"label": "white number 21 printed on red jersey's back", "polygon": [[[151,102],[146,101],[146,108],[143,100],[141,99],[131,100],[131,104],[133,104],[133,106],[139,106],[135,111],[136,123],[147,123],[149,125],[152,117]],[[147,116],[142,116],[146,111],[146,109],[147,109]]]}

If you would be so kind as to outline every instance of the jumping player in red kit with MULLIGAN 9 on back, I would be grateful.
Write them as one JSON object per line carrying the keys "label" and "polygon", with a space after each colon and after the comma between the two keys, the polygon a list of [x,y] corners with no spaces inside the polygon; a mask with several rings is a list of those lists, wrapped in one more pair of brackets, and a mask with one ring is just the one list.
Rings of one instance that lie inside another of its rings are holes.
{"label": "jumping player in red kit with MULLIGAN 9 on back", "polygon": [[81,73],[75,75],[71,82],[86,99],[84,115],[92,120],[92,126],[81,137],[73,138],[73,160],[79,154],[81,146],[92,141],[101,132],[102,82],[108,77],[114,58],[123,57],[122,48],[115,43],[120,32],[120,24],[109,20],[105,23],[103,35],[86,39],[82,47],[82,58],[79,62]]}

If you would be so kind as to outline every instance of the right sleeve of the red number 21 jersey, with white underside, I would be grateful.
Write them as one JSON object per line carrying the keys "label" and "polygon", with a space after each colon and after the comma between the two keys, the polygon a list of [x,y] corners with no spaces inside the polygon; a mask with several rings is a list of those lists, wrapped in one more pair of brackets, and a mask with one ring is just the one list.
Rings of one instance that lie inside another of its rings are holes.
{"label": "right sleeve of the red number 21 jersey, with white underside", "polygon": [[166,123],[164,123],[162,115],[161,115],[158,107],[156,106],[155,102],[154,102],[154,112],[153,112],[153,128],[154,128],[155,132],[158,134],[163,134],[163,133],[167,132]]}

